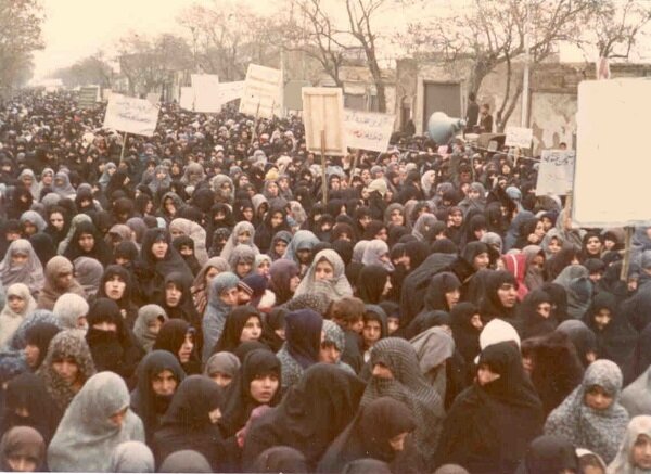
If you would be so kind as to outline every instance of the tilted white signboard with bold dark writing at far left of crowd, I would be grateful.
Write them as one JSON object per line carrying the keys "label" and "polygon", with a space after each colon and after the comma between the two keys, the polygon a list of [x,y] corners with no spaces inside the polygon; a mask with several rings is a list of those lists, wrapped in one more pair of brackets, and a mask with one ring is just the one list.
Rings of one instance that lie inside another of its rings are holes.
{"label": "tilted white signboard with bold dark writing at far left of crowd", "polygon": [[151,137],[157,121],[158,106],[152,105],[146,99],[111,94],[104,116],[104,128]]}

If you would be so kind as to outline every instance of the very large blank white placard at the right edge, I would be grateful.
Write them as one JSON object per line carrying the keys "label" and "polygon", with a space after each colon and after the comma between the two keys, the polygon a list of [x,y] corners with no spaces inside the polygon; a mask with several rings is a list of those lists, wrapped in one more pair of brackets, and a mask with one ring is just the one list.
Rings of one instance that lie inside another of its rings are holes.
{"label": "very large blank white placard at the right edge", "polygon": [[583,227],[651,225],[641,118],[651,110],[651,80],[585,80],[578,85],[572,219]]}

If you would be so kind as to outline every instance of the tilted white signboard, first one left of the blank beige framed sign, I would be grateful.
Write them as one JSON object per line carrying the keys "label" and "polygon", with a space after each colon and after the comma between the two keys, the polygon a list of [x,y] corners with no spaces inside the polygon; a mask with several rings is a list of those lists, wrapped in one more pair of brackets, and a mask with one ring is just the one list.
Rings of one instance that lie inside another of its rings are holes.
{"label": "tilted white signboard, first one left of the blank beige framed sign", "polygon": [[281,115],[282,72],[271,67],[250,64],[240,101],[240,113],[272,118]]}

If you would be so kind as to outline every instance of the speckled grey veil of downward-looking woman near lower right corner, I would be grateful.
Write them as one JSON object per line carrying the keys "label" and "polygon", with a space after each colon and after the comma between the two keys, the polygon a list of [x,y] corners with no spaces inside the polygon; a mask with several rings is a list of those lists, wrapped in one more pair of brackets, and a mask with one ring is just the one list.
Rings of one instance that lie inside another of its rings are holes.
{"label": "speckled grey veil of downward-looking woman near lower right corner", "polygon": [[[605,410],[596,411],[585,403],[586,393],[595,385],[613,397]],[[611,462],[624,438],[628,413],[620,405],[622,371],[610,360],[592,362],[582,384],[553,410],[545,425],[545,433],[567,438],[574,446],[597,452]]]}

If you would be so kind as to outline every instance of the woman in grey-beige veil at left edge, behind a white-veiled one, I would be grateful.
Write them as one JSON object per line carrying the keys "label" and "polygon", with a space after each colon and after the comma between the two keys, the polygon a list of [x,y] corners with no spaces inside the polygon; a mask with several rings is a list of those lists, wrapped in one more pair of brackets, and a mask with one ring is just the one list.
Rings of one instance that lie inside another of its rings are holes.
{"label": "woman in grey-beige veil at left edge, behind a white-veiled one", "polygon": [[44,283],[43,267],[29,241],[18,239],[10,244],[0,262],[0,280],[4,287],[23,283],[33,296],[38,296]]}

